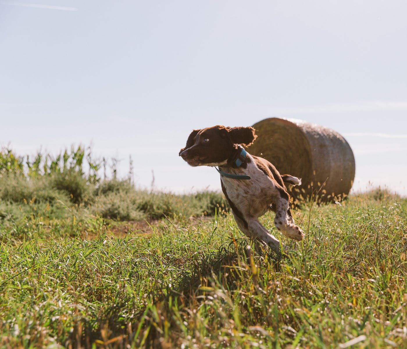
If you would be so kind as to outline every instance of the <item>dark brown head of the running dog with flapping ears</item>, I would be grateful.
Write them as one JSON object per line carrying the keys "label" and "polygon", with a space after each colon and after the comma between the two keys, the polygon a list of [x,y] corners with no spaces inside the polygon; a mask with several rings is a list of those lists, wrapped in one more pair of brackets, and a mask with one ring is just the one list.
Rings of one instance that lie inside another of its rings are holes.
{"label": "dark brown head of the running dog with flapping ears", "polygon": [[238,144],[249,146],[256,139],[253,127],[213,126],[194,130],[179,151],[191,166],[220,166],[226,164]]}

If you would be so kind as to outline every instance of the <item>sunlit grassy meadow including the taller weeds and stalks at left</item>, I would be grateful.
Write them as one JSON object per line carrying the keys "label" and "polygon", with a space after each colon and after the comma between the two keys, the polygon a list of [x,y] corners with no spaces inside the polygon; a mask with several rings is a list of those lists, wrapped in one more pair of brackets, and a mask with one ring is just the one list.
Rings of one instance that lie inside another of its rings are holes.
{"label": "sunlit grassy meadow including the taller weeds and stalks at left", "polygon": [[292,249],[276,260],[220,193],[131,172],[83,147],[0,151],[0,348],[407,347],[406,198],[300,203],[301,243],[266,214]]}

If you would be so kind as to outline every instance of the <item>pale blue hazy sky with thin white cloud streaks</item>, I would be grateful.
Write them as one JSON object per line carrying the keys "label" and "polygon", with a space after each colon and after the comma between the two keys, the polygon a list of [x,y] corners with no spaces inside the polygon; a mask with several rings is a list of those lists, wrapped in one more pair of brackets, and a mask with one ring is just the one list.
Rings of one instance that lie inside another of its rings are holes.
{"label": "pale blue hazy sky with thin white cloud streaks", "polygon": [[[24,1],[24,0],[22,0]],[[299,118],[344,135],[354,189],[407,195],[405,1],[0,1],[0,145],[92,144],[149,188],[220,190],[192,131]]]}

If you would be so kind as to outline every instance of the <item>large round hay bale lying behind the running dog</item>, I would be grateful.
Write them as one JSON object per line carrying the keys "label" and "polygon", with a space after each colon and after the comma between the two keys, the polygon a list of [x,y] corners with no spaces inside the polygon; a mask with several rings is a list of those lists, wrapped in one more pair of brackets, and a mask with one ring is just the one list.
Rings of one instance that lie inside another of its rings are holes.
{"label": "large round hay bale lying behind the running dog", "polygon": [[249,153],[270,161],[280,174],[302,179],[298,187],[287,185],[291,196],[337,201],[348,195],[355,161],[352,149],[339,133],[296,119],[269,118],[253,127],[257,139]]}

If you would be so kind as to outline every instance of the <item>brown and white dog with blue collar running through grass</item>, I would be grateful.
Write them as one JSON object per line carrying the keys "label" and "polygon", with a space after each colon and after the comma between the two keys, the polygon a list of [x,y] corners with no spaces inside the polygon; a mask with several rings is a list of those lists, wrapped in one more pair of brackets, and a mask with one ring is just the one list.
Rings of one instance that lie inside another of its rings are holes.
{"label": "brown and white dog with blue collar running through grass", "polygon": [[278,231],[293,240],[303,238],[295,225],[284,182],[293,185],[301,180],[280,175],[266,159],[247,153],[240,144],[249,146],[256,139],[253,127],[214,126],[193,130],[179,155],[190,166],[218,166],[223,194],[230,204],[239,229],[249,238],[266,243],[277,255],[288,252],[258,221],[268,210],[276,213]]}

